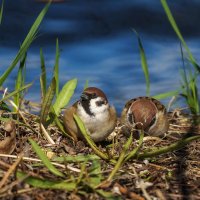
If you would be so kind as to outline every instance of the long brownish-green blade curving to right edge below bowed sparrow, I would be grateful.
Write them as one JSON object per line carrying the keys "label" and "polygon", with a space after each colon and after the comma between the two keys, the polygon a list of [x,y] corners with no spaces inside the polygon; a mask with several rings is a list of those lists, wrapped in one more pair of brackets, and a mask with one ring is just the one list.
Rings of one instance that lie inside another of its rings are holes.
{"label": "long brownish-green blade curving to right edge below bowed sparrow", "polygon": [[144,158],[158,156],[158,155],[161,155],[164,153],[169,153],[172,151],[179,150],[182,147],[184,147],[186,144],[188,144],[194,140],[199,140],[199,139],[200,139],[200,135],[184,138],[184,139],[182,139],[178,142],[175,142],[166,147],[160,147],[160,148],[156,148],[154,150],[148,149],[144,153],[139,153],[139,154],[134,155],[132,158],[144,159]]}

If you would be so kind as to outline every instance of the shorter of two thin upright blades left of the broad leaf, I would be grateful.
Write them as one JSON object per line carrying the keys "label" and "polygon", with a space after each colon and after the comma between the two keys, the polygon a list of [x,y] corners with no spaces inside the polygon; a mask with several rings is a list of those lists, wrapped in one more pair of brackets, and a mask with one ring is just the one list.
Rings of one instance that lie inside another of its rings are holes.
{"label": "shorter of two thin upright blades left of the broad leaf", "polygon": [[40,76],[40,87],[41,87],[41,94],[42,99],[46,95],[47,90],[47,78],[46,78],[46,67],[45,67],[45,60],[42,49],[40,49],[40,65],[41,65],[41,76]]}

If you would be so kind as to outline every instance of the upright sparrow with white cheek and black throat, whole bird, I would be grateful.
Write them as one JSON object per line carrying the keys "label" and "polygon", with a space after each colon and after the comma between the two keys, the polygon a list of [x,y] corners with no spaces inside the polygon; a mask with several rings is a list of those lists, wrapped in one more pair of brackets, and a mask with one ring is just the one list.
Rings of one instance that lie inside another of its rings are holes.
{"label": "upright sparrow with white cheek and black throat, whole bird", "polygon": [[115,108],[109,105],[104,92],[96,87],[86,88],[80,96],[80,100],[64,111],[64,126],[77,141],[77,138],[83,136],[73,118],[74,114],[81,118],[94,142],[106,139],[117,123]]}

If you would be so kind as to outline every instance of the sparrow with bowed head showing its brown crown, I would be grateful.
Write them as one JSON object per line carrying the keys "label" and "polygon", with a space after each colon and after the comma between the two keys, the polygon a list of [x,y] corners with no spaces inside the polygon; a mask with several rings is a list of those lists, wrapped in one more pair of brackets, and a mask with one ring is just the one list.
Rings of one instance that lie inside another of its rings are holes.
{"label": "sparrow with bowed head showing its brown crown", "polygon": [[169,128],[166,108],[151,97],[129,100],[122,111],[121,123],[125,134],[142,129],[150,136],[163,136]]}

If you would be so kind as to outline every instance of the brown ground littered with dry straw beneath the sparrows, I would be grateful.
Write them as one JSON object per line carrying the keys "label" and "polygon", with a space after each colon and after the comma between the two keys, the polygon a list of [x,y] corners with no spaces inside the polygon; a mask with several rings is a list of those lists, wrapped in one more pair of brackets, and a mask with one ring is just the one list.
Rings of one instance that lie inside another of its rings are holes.
{"label": "brown ground littered with dry straw beneath the sparrows", "polygon": [[[24,114],[24,120],[32,127],[32,131],[24,125],[16,124],[16,147],[12,152],[13,156],[22,154],[23,157],[37,158],[36,153],[28,141],[34,139],[43,148],[48,157],[58,157],[62,155],[94,155],[93,150],[83,141],[74,144],[54,126],[48,128],[51,137],[56,141],[56,145],[49,145],[46,138],[39,133],[37,116]],[[165,138],[145,137],[143,146],[139,151],[144,151],[153,147],[169,146],[180,141],[183,137],[200,135],[200,117],[184,115],[181,112],[169,113],[170,129]],[[23,119],[20,119],[23,121]],[[1,121],[1,140],[3,140],[5,127]],[[127,138],[117,129],[119,133],[114,139],[97,144],[99,149],[110,152],[109,155],[116,156],[122,152],[123,144]],[[8,130],[6,129],[8,132]],[[3,134],[2,134],[3,133]],[[134,139],[131,148],[137,145]],[[100,184],[99,188],[103,192],[110,192],[112,195],[106,197],[100,190],[95,190],[87,185],[87,176],[90,176],[89,169],[93,161],[85,163],[85,171],[80,175],[80,168],[83,162],[61,163],[69,165],[69,168],[57,168],[65,173],[66,178],[78,180],[79,184],[73,191],[63,189],[41,189],[26,183],[25,179],[20,180],[16,176],[17,170],[26,172],[34,177],[48,180],[60,180],[53,175],[41,163],[29,159],[16,159],[8,156],[0,156],[0,199],[17,200],[43,200],[43,199],[172,199],[172,200],[197,200],[200,199],[200,140],[195,140],[183,148],[145,159],[131,159],[115,174],[109,184]],[[16,163],[17,161],[18,163]],[[100,166],[102,181],[105,180],[113,165],[103,159],[97,159]],[[6,176],[6,178],[5,178]],[[73,178],[72,178],[73,177]],[[80,178],[81,177],[81,178]],[[90,179],[91,180],[91,179]]]}

